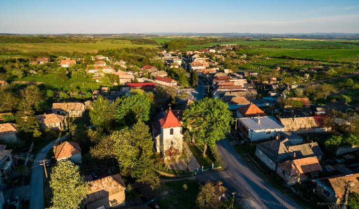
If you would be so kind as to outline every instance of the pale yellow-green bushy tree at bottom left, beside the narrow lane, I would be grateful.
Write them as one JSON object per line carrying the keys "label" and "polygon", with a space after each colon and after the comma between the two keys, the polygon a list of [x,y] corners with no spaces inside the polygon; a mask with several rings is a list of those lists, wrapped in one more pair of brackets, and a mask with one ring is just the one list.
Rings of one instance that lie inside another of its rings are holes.
{"label": "pale yellow-green bushy tree at bottom left, beside the narrow lane", "polygon": [[59,161],[51,172],[51,209],[83,208],[88,185],[84,182],[78,166],[70,161]]}

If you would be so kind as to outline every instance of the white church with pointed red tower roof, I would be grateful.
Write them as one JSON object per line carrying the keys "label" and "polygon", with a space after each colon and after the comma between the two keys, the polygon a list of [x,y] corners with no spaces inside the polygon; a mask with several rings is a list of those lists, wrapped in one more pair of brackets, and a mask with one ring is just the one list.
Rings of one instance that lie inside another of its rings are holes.
{"label": "white church with pointed red tower roof", "polygon": [[166,152],[170,148],[182,151],[183,135],[182,124],[179,121],[181,112],[171,110],[160,112],[155,115],[152,122],[154,145],[157,153],[162,153],[167,159]]}

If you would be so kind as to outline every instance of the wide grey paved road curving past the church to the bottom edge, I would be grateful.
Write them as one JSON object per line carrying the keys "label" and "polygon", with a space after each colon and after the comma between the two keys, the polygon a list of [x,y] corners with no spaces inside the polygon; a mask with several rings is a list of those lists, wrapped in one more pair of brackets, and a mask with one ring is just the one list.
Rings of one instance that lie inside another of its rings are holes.
{"label": "wide grey paved road curving past the church to the bottom edge", "polygon": [[290,209],[301,208],[289,198],[284,197],[279,191],[268,185],[262,178],[254,174],[238,156],[234,148],[230,145],[228,139],[221,139],[217,141],[216,144],[218,151],[222,154],[222,158],[227,163],[228,168],[220,172],[207,171],[200,173],[198,175],[200,178],[202,177],[212,182],[220,180],[223,182],[223,186],[228,188],[230,192],[236,192],[274,203],[269,204],[261,201],[250,201],[252,208],[283,208],[275,204],[291,206],[288,207]]}

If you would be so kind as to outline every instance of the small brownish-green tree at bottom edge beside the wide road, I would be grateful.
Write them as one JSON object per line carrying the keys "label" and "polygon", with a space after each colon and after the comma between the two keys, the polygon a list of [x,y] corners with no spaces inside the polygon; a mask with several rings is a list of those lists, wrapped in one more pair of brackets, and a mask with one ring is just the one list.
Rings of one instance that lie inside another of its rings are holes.
{"label": "small brownish-green tree at bottom edge beside the wide road", "polygon": [[215,187],[212,183],[207,182],[199,188],[196,199],[196,205],[200,209],[219,209],[221,202],[215,196]]}

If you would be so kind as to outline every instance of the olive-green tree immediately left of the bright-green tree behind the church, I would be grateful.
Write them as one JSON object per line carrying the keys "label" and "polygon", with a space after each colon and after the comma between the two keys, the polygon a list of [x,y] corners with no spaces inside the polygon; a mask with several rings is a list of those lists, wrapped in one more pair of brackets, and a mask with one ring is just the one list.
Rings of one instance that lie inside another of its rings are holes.
{"label": "olive-green tree immediately left of the bright-green tree behind the church", "polygon": [[90,122],[96,127],[101,127],[107,131],[114,128],[116,107],[120,103],[117,99],[114,103],[109,104],[106,98],[101,95],[93,103],[93,109],[90,109]]}

